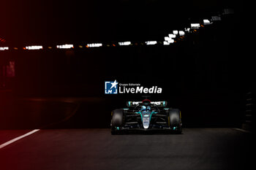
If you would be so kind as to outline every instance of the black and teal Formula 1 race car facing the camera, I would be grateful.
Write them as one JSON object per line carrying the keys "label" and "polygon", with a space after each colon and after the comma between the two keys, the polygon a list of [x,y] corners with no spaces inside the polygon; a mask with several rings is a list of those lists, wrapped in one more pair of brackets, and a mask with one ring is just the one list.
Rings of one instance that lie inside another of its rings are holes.
{"label": "black and teal Formula 1 race car facing the camera", "polygon": [[181,134],[181,111],[166,107],[167,101],[127,101],[127,108],[111,112],[111,134],[129,130],[166,130]]}

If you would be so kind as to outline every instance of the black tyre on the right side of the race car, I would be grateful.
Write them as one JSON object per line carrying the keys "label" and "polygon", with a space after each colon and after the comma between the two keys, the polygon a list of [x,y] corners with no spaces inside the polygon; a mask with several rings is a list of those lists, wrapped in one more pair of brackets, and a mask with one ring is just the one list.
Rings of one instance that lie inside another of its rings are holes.
{"label": "black tyre on the right side of the race car", "polygon": [[170,109],[169,126],[176,134],[181,134],[181,111],[179,109]]}

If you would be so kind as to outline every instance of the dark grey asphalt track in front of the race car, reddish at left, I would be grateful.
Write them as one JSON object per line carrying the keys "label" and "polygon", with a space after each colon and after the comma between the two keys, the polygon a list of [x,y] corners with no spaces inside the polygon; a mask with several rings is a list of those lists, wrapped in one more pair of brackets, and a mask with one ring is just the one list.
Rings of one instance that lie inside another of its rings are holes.
{"label": "dark grey asphalt track in front of the race car, reddish at left", "polygon": [[116,136],[103,128],[45,129],[1,148],[0,169],[253,169],[253,142],[233,128]]}

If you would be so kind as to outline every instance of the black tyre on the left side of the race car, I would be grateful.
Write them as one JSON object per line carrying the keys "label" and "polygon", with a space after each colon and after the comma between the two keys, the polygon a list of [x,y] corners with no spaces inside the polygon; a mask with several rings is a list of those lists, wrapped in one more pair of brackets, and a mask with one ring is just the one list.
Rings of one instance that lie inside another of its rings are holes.
{"label": "black tyre on the left side of the race car", "polygon": [[124,125],[124,110],[114,109],[111,120],[111,134],[121,134],[120,128]]}

